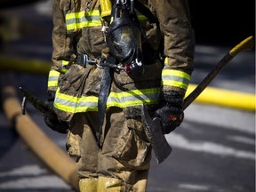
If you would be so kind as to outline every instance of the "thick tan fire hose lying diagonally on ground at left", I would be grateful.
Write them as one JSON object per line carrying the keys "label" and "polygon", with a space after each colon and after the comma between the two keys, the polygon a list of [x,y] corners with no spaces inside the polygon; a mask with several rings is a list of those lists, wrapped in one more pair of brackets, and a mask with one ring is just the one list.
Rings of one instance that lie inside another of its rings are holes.
{"label": "thick tan fire hose lying diagonally on ground at left", "polygon": [[17,99],[15,89],[10,86],[4,86],[2,90],[3,108],[5,116],[10,122],[13,122],[16,131],[20,137],[26,141],[40,159],[47,164],[53,172],[56,172],[63,180],[75,188],[78,187],[78,176],[75,162],[26,115],[23,116],[20,111],[20,101]]}

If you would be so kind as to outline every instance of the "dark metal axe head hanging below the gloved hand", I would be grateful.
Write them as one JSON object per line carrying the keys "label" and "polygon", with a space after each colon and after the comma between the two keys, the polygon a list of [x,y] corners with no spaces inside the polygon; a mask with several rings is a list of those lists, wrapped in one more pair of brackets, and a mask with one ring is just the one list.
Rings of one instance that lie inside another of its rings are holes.
{"label": "dark metal axe head hanging below the gloved hand", "polygon": [[149,116],[148,109],[144,104],[142,104],[141,111],[142,122],[145,124],[145,132],[154,150],[156,162],[157,164],[161,164],[164,162],[164,159],[166,159],[171,154],[172,148],[164,137],[161,119],[157,117],[152,119]]}

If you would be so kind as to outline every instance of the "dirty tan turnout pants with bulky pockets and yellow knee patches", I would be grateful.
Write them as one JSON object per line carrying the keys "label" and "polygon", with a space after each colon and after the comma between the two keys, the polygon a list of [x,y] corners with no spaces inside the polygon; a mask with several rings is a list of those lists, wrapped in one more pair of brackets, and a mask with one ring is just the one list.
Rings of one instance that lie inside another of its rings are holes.
{"label": "dirty tan turnout pants with bulky pockets and yellow knee patches", "polygon": [[140,109],[108,108],[101,136],[97,112],[76,114],[70,124],[68,155],[76,156],[82,192],[146,191],[152,148]]}

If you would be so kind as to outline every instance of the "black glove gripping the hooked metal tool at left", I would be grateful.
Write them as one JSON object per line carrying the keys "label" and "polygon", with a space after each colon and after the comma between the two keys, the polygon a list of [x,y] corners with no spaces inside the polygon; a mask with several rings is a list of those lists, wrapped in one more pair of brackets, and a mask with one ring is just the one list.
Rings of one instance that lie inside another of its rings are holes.
{"label": "black glove gripping the hooked metal tool at left", "polygon": [[[48,105],[53,110],[53,102],[55,98],[55,92],[48,92]],[[58,116],[46,116],[44,115],[45,124],[50,127],[55,132],[67,133],[68,132],[68,123],[61,121]]]}

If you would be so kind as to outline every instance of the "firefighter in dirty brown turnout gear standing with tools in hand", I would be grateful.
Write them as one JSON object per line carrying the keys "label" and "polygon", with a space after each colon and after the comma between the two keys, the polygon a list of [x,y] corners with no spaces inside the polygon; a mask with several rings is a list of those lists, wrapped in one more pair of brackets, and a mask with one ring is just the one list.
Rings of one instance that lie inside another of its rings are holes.
{"label": "firefighter in dirty brown turnout gear standing with tools in hand", "polygon": [[48,101],[58,119],[44,121],[67,133],[80,190],[146,191],[141,105],[165,134],[183,120],[195,48],[188,1],[54,0],[52,20]]}

